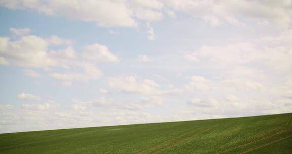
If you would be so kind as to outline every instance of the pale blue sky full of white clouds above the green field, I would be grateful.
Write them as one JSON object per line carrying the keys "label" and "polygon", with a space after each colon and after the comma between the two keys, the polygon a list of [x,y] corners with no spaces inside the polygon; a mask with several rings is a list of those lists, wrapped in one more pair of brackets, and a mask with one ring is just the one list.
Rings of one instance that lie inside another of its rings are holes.
{"label": "pale blue sky full of white clouds above the green field", "polygon": [[0,133],[292,112],[292,1],[0,0]]}

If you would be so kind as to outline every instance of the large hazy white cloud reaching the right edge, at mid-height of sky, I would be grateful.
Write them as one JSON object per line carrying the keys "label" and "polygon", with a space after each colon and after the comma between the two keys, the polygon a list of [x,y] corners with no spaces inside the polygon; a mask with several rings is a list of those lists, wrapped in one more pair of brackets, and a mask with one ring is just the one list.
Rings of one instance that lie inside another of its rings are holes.
{"label": "large hazy white cloud reaching the right edge, at mid-height of sky", "polygon": [[[261,63],[271,67],[275,71],[288,71],[291,69],[292,54],[288,52],[291,46],[283,33],[290,33],[290,29],[284,30],[279,36],[260,37],[247,42],[237,42],[221,46],[202,46],[196,52],[184,55],[187,60],[195,63],[216,65],[226,68],[231,65],[248,65]],[[283,37],[283,38],[282,38]]]}

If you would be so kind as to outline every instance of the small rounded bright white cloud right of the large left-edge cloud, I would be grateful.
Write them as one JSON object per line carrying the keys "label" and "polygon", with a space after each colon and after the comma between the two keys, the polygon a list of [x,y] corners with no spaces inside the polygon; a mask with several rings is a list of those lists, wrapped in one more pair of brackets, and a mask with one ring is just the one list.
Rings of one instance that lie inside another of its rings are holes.
{"label": "small rounded bright white cloud right of the large left-edge cloud", "polygon": [[92,61],[109,61],[118,62],[118,57],[108,51],[104,45],[93,44],[84,47],[84,52],[81,53],[84,59]]}

